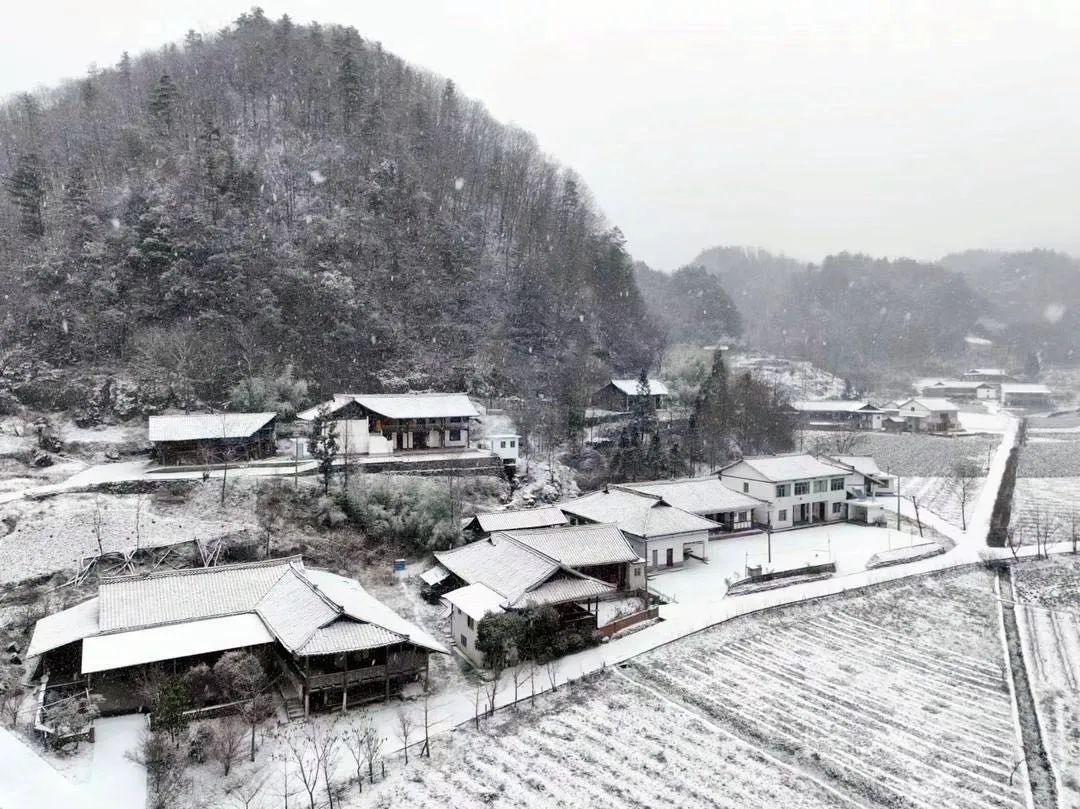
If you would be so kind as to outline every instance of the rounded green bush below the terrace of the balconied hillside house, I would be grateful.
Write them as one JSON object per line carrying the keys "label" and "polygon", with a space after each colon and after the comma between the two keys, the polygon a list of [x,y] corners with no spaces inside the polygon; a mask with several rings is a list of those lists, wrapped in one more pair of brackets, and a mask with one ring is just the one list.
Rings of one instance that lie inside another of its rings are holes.
{"label": "rounded green bush below the terrace of the balconied hillside house", "polygon": [[369,539],[388,545],[432,551],[461,541],[449,491],[432,480],[357,475],[339,505]]}

